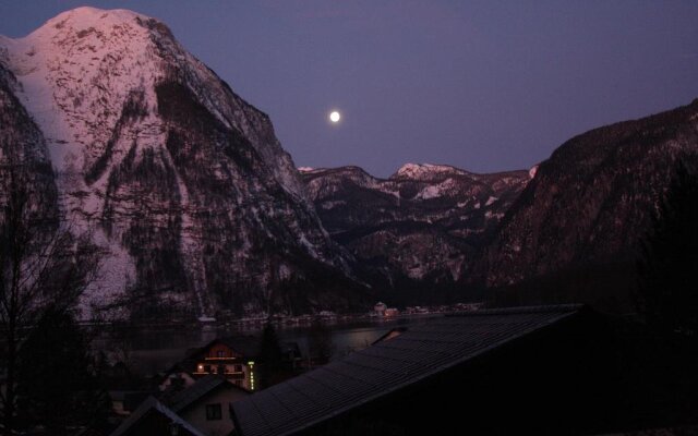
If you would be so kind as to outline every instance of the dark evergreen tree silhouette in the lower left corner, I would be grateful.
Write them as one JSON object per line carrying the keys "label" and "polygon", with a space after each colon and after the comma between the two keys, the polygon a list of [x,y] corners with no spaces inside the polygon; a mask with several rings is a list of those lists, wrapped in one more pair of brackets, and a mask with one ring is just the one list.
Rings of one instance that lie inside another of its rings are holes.
{"label": "dark evergreen tree silhouette in the lower left corner", "polygon": [[17,371],[19,417],[51,435],[103,428],[110,410],[89,341],[71,313],[49,308],[23,343]]}

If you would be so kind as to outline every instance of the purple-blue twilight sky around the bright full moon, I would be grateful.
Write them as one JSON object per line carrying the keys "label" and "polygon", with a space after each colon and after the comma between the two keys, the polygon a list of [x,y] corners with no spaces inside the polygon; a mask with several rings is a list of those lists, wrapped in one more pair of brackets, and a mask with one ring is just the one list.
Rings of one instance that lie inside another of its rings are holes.
{"label": "purple-blue twilight sky around the bright full moon", "polygon": [[298,166],[529,168],[698,97],[696,1],[22,0],[0,2],[0,34],[79,5],[164,21]]}

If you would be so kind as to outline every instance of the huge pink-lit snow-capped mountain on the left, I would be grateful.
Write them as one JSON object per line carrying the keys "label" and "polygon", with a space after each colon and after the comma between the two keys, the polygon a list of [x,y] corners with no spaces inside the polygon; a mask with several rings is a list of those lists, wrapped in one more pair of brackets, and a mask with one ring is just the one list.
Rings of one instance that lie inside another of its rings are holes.
{"label": "huge pink-lit snow-capped mountain on the left", "polygon": [[1,37],[0,68],[0,113],[26,110],[61,213],[105,250],[85,304],[128,296],[144,315],[350,304],[301,284],[322,271],[357,287],[268,117],[165,24],[79,8]]}

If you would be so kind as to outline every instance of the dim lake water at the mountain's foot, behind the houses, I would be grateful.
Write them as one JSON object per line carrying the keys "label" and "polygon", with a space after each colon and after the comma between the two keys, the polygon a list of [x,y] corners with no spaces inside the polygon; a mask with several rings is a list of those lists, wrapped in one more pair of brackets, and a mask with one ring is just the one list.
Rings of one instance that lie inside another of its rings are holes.
{"label": "dim lake water at the mountain's foot, behind the houses", "polygon": [[[433,316],[399,318],[395,320],[364,322],[358,324],[328,325],[333,340],[333,360],[340,359],[348,353],[361,350],[386,334],[394,327],[416,323],[424,323]],[[281,342],[298,342],[303,356],[308,356],[309,327],[279,328]],[[261,329],[182,329],[182,330],[142,330],[131,336],[130,348],[131,366],[140,374],[148,375],[165,371],[183,360],[188,351],[200,348],[216,339],[228,335],[261,336]],[[95,340],[98,350],[109,352],[112,348],[123,344],[113,343],[109,338]]]}

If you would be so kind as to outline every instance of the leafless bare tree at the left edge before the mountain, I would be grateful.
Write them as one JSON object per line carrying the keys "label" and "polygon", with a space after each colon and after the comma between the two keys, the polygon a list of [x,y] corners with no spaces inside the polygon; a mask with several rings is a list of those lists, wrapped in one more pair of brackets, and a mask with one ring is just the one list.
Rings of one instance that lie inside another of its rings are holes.
{"label": "leafless bare tree at the left edge before the mountain", "polygon": [[99,256],[87,238],[73,235],[61,222],[50,166],[16,160],[2,166],[0,189],[0,342],[5,376],[0,402],[4,433],[11,434],[22,341],[49,307],[75,307],[95,278]]}

